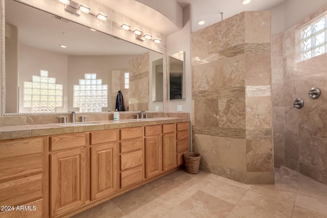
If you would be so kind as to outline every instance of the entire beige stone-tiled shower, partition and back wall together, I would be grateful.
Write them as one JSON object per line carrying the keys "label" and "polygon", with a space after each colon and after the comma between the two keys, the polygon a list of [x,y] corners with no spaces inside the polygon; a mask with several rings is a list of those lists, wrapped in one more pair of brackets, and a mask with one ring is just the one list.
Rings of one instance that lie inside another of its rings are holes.
{"label": "entire beige stone-tiled shower, partition and back wall together", "polygon": [[[193,151],[202,154],[201,169],[269,184],[274,166],[286,166],[327,184],[327,54],[299,62],[296,50],[298,29],[326,11],[271,38],[268,12],[243,12],[192,34]],[[309,98],[312,87],[319,99]],[[299,110],[297,98],[305,101]]]}

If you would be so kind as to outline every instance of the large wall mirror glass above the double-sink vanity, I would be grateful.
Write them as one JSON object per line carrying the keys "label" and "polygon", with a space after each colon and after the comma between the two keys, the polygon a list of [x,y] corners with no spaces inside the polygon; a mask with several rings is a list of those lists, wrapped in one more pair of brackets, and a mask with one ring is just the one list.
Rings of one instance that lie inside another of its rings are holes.
{"label": "large wall mirror glass above the double-sink vanity", "polygon": [[126,111],[163,110],[162,54],[12,0],[5,10],[5,113],[113,111],[119,91]]}

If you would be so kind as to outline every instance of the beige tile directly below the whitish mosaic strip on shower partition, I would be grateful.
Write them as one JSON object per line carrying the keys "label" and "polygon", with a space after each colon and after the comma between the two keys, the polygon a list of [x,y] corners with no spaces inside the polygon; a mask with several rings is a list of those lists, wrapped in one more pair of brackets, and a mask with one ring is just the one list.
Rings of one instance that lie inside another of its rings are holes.
{"label": "beige tile directly below the whitish mosaic strip on shower partition", "polygon": [[245,107],[246,128],[272,128],[272,103],[270,96],[246,97]]}

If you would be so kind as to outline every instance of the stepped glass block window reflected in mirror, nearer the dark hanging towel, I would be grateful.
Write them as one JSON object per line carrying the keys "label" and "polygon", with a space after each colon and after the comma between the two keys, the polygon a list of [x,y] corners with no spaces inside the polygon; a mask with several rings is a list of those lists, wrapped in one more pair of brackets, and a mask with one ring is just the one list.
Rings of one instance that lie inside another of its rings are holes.
{"label": "stepped glass block window reflected in mirror, nearer the dark hanging towel", "polygon": [[74,85],[73,107],[80,112],[101,112],[108,107],[108,85],[103,85],[97,74],[85,74],[84,78]]}

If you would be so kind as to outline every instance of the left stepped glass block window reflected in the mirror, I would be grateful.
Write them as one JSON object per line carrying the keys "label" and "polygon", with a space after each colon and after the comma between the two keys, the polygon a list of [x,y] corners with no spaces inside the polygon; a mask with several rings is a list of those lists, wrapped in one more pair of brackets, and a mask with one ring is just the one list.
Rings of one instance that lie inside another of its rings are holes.
{"label": "left stepped glass block window reflected in the mirror", "polygon": [[40,76],[32,76],[32,82],[24,82],[23,107],[33,113],[56,112],[56,107],[63,107],[62,84],[56,84],[48,70],[41,70]]}

